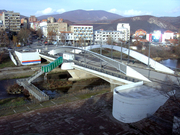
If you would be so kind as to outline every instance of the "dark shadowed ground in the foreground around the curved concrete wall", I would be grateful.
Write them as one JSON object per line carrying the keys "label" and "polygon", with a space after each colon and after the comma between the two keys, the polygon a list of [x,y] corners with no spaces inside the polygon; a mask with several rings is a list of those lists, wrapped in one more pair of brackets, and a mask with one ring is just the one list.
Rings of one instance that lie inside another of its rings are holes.
{"label": "dark shadowed ground in the foreground around the curved concrete wall", "polygon": [[1,135],[170,135],[172,112],[168,100],[153,116],[125,124],[112,116],[112,92],[30,112],[0,117]]}

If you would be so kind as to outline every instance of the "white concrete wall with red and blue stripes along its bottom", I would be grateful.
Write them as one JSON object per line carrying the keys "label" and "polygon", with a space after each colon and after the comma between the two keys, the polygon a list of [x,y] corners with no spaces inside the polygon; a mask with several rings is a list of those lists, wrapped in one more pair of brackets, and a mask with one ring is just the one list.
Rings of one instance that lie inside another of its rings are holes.
{"label": "white concrete wall with red and blue stripes along its bottom", "polygon": [[17,52],[15,51],[22,65],[32,65],[41,63],[38,52]]}

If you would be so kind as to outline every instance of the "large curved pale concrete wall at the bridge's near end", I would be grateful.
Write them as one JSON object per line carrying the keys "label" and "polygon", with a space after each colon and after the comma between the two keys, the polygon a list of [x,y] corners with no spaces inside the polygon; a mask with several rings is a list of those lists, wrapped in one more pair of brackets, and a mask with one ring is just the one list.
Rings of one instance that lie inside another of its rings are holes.
{"label": "large curved pale concrete wall at the bridge's near end", "polygon": [[[140,93],[132,92],[133,87],[142,85],[141,82],[119,86],[113,92],[113,117],[123,123],[133,123],[153,115],[157,109],[163,105],[168,97],[161,95],[153,90],[142,96]],[[127,94],[124,94],[125,92]],[[130,92],[133,94],[127,96]],[[141,96],[140,96],[141,95]]]}

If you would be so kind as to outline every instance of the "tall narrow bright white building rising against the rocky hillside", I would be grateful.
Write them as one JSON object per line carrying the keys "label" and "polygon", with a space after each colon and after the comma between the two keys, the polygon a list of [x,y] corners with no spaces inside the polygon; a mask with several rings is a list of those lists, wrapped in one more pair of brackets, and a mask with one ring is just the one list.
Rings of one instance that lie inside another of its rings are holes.
{"label": "tall narrow bright white building rising against the rocky hillside", "polygon": [[130,40],[130,25],[129,25],[129,23],[118,23],[117,31],[121,31],[125,34],[124,41]]}

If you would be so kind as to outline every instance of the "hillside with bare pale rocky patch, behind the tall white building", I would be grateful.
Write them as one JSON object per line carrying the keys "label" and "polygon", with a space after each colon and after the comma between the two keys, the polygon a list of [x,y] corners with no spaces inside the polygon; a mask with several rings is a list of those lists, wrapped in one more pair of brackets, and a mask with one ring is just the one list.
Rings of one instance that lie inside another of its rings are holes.
{"label": "hillside with bare pale rocky patch, behind the tall white building", "polygon": [[162,32],[165,30],[178,31],[178,28],[174,25],[154,16],[126,17],[114,20],[109,24],[93,24],[93,26],[94,30],[117,30],[118,23],[129,23],[132,33],[138,29],[144,29],[148,33],[153,32],[153,30],[161,30]]}

